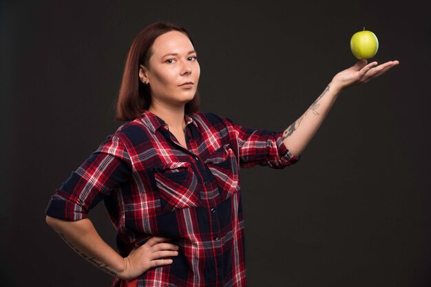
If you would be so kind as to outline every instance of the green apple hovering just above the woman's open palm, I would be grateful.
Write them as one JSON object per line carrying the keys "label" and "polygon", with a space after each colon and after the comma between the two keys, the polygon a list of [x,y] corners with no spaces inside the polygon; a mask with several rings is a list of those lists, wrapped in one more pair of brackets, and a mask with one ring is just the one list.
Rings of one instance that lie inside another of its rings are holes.
{"label": "green apple hovering just above the woman's open palm", "polygon": [[377,53],[379,40],[377,40],[377,36],[373,32],[366,31],[364,28],[364,31],[353,34],[350,39],[350,49],[359,60],[369,59]]}

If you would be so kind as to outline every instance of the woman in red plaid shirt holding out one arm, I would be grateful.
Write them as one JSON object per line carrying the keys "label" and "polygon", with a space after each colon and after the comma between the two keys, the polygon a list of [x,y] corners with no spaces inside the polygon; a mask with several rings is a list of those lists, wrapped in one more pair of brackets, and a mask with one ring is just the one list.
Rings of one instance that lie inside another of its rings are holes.
{"label": "woman in red plaid shirt holding out one arm", "polygon": [[[116,118],[127,122],[56,190],[46,220],[114,275],[113,286],[245,286],[239,168],[295,163],[341,90],[398,64],[361,60],[283,133],[254,130],[198,112],[191,37],[173,23],[149,25],[132,43],[118,95]],[[101,200],[119,253],[87,219]]]}

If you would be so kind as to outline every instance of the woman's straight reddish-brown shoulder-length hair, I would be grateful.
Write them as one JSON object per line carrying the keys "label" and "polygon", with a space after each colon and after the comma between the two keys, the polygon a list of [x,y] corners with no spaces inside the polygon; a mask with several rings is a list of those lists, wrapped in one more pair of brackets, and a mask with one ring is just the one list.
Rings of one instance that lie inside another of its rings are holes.
{"label": "woman's straight reddish-brown shoulder-length hair", "polygon": [[[147,110],[151,104],[151,93],[149,87],[139,80],[139,67],[148,67],[151,57],[151,47],[156,38],[169,31],[179,31],[189,37],[191,36],[184,27],[176,23],[156,22],[141,30],[134,38],[127,54],[125,62],[123,80],[116,101],[116,116],[118,121],[128,121],[140,117],[143,110]],[[185,104],[185,113],[191,114],[198,111],[200,103],[199,93],[193,100]]]}

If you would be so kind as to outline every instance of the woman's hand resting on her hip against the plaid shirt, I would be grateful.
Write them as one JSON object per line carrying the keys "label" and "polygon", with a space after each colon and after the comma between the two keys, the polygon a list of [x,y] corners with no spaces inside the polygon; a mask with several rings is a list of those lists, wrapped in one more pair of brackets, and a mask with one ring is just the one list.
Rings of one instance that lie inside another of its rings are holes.
{"label": "woman's hand resting on her hip against the plaid shirt", "polygon": [[173,261],[166,257],[178,255],[178,246],[168,243],[169,238],[154,236],[145,244],[133,249],[124,258],[125,268],[117,274],[120,279],[132,280],[147,272],[150,268],[169,265]]}

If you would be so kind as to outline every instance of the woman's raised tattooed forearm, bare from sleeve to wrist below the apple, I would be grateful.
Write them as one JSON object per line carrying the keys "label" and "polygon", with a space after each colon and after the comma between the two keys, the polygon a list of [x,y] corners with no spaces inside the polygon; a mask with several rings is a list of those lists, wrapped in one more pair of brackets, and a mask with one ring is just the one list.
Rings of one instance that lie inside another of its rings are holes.
{"label": "woman's raised tattooed forearm, bare from sleeve to wrist below the apple", "polygon": [[330,82],[315,102],[283,133],[286,148],[295,156],[299,156],[311,141],[319,126],[333,106],[341,89]]}

